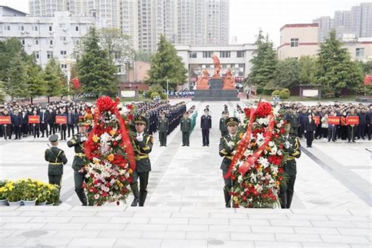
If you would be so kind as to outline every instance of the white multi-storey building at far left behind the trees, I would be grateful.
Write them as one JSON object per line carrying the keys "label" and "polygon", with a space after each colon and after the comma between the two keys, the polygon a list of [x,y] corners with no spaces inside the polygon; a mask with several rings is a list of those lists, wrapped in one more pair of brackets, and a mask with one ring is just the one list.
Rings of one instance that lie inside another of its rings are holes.
{"label": "white multi-storey building at far left behind the trees", "polygon": [[100,27],[95,17],[72,16],[57,11],[54,16],[0,16],[0,39],[19,38],[27,54],[35,54],[36,61],[45,66],[52,57],[62,68],[72,61],[75,45],[90,27]]}

